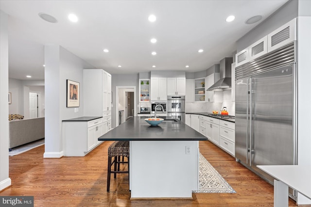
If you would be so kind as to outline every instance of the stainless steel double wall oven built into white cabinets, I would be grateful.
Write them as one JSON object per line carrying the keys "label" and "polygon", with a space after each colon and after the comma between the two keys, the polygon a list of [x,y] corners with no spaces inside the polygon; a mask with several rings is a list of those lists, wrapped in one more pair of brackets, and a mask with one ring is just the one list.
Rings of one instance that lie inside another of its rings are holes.
{"label": "stainless steel double wall oven built into white cabinets", "polygon": [[167,97],[167,115],[185,122],[185,96]]}

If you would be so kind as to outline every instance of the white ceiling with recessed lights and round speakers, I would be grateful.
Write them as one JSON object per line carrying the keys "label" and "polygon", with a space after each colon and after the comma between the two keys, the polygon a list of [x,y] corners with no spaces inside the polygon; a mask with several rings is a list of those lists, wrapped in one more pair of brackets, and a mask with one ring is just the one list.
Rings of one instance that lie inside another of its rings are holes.
{"label": "white ceiling with recessed lights and round speakers", "polygon": [[[9,15],[9,78],[44,80],[46,44],[58,44],[111,74],[202,71],[232,57],[236,41],[287,1],[0,0]],[[58,23],[44,21],[41,12]],[[70,13],[78,22],[68,20]],[[148,21],[150,14],[155,22]],[[236,16],[233,22],[225,22],[229,15]],[[258,23],[244,23],[256,15],[263,16]]]}

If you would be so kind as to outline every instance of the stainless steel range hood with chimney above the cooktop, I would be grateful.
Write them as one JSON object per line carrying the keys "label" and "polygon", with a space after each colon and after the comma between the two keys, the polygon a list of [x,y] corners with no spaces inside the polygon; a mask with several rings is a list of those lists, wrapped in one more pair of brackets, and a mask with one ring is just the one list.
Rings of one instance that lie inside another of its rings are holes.
{"label": "stainless steel range hood with chimney above the cooktop", "polygon": [[220,80],[210,86],[207,91],[223,91],[231,88],[231,64],[233,58],[224,58],[220,61]]}

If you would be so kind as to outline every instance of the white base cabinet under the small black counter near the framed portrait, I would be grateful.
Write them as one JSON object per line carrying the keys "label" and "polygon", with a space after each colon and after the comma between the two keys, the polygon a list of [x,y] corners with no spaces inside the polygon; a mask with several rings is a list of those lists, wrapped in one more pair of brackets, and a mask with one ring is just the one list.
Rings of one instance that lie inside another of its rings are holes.
{"label": "white base cabinet under the small black counter near the framed portrait", "polygon": [[63,121],[64,155],[85,156],[103,135],[103,118],[91,121]]}

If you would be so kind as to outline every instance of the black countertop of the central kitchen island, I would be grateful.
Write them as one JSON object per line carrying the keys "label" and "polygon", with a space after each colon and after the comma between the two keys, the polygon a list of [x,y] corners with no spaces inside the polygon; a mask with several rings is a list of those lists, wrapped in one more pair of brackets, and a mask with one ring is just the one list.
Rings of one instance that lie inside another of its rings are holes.
{"label": "black countertop of the central kitchen island", "polygon": [[198,141],[207,140],[200,132],[172,117],[158,126],[151,126],[144,117],[135,116],[103,136],[99,141]]}

